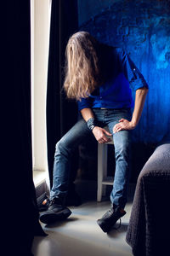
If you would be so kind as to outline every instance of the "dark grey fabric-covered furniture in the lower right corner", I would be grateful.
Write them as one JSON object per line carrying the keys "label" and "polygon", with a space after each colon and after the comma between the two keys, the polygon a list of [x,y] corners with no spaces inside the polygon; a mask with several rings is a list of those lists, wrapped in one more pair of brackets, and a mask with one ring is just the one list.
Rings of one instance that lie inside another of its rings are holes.
{"label": "dark grey fabric-covered furniture in the lower right corner", "polygon": [[126,236],[133,255],[169,255],[169,218],[170,137],[167,137],[139,174]]}

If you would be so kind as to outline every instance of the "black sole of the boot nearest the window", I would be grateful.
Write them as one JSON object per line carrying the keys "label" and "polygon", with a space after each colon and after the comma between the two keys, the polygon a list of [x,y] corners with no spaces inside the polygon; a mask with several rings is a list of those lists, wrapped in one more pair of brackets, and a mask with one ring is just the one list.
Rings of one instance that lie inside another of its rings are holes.
{"label": "black sole of the boot nearest the window", "polygon": [[51,224],[58,220],[64,220],[71,215],[71,210],[65,209],[61,212],[44,212],[40,216],[40,221],[44,224]]}

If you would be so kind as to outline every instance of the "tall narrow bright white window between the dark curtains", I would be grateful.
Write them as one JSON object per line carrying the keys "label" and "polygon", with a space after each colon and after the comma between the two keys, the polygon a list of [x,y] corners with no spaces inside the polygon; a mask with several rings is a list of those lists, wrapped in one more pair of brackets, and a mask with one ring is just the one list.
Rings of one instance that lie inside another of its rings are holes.
{"label": "tall narrow bright white window between the dark curtains", "polygon": [[50,0],[31,0],[31,125],[35,186],[47,180],[46,91]]}

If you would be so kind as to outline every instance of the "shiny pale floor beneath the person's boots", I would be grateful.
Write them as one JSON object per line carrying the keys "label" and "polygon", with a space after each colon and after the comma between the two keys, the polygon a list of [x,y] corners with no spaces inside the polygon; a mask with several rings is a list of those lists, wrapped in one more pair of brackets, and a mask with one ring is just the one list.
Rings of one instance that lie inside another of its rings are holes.
{"label": "shiny pale floor beneath the person's boots", "polygon": [[70,207],[71,216],[42,228],[48,234],[35,237],[32,253],[34,256],[132,256],[131,247],[125,241],[132,201],[126,206],[127,214],[122,226],[105,234],[96,223],[109,208],[110,201],[84,201],[79,207]]}

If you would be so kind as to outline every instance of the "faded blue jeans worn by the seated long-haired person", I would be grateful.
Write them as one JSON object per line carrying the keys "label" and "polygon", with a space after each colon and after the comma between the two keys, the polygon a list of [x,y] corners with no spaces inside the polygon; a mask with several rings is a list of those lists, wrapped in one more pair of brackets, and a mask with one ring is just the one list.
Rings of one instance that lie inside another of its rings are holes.
{"label": "faded blue jeans worn by the seated long-haired person", "polygon": [[[108,125],[111,134],[119,119],[131,119],[129,109],[98,109],[94,108],[94,116],[99,127]],[[56,144],[54,154],[54,182],[50,197],[59,197],[65,201],[68,191],[71,155],[83,141],[94,136],[84,119],[81,119]],[[127,202],[127,184],[129,180],[130,163],[130,131],[119,131],[113,134],[116,170],[111,191],[111,203],[122,208]]]}

